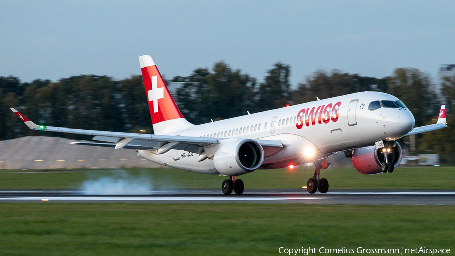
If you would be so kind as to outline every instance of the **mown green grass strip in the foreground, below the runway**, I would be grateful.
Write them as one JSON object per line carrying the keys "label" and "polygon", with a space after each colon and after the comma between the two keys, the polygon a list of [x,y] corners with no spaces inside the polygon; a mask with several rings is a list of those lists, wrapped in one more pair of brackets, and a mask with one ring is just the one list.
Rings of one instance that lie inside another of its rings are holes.
{"label": "mown green grass strip in the foreground, below the runway", "polygon": [[280,255],[280,247],[455,249],[454,206],[0,206],[0,255]]}

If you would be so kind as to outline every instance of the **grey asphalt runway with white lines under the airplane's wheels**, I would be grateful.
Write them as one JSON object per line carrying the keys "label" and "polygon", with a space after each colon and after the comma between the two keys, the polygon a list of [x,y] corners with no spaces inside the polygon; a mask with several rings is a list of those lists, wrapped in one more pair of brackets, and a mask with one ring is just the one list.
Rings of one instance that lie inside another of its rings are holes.
{"label": "grey asphalt runway with white lines under the airplane's wheels", "polygon": [[302,189],[245,190],[224,195],[220,189],[154,190],[142,195],[86,195],[81,190],[0,190],[0,202],[39,203],[304,203],[455,205],[455,190],[344,190],[309,194]]}

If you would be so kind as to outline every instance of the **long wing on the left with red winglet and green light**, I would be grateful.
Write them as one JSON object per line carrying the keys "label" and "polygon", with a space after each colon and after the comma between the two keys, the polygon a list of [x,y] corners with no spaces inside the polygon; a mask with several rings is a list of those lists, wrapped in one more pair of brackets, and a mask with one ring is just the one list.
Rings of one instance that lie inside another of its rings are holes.
{"label": "long wing on the left with red winglet and green light", "polygon": [[[102,141],[102,143],[79,141],[70,143],[75,145],[112,147],[115,149],[157,150],[157,154],[164,154],[171,149],[178,149],[201,154],[204,151],[204,146],[218,144],[218,140],[220,140],[211,137],[121,133],[36,125],[16,109],[11,108],[11,110],[32,130],[94,135],[95,137],[93,137],[92,140]],[[280,141],[257,140],[257,142],[264,147],[264,150],[269,148],[279,150],[283,147],[283,144]]]}

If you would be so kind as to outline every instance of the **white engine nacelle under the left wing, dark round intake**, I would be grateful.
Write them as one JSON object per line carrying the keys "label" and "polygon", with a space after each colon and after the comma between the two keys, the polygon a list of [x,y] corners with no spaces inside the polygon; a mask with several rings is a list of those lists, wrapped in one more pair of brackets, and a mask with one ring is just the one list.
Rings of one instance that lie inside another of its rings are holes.
{"label": "white engine nacelle under the left wing, dark round intake", "polygon": [[237,139],[225,143],[213,156],[215,168],[222,175],[236,176],[253,172],[264,161],[264,149],[254,140]]}

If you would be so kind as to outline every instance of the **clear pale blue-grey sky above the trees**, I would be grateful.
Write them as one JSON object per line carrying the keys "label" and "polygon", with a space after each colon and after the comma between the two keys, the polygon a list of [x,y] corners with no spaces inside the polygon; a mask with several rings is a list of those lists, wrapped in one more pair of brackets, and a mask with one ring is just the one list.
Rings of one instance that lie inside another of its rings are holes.
{"label": "clear pale blue-grey sky above the trees", "polygon": [[150,55],[166,79],[218,61],[296,87],[317,70],[382,78],[455,63],[455,1],[4,1],[0,76],[124,79]]}

